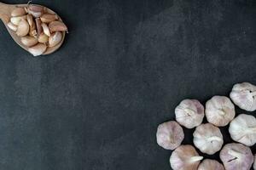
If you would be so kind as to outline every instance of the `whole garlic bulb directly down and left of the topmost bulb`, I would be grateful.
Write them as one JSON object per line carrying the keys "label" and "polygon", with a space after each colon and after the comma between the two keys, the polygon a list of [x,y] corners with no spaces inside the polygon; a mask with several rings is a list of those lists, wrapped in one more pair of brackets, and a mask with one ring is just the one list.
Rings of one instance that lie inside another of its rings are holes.
{"label": "whole garlic bulb directly down and left of the topmost bulb", "polygon": [[206,104],[207,121],[217,127],[224,127],[235,117],[235,106],[225,96],[213,96]]}

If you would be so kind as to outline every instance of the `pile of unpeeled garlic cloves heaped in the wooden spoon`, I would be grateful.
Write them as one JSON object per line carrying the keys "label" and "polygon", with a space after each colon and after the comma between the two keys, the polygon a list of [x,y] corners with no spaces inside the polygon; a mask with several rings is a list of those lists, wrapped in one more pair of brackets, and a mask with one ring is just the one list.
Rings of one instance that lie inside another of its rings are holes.
{"label": "pile of unpeeled garlic cloves heaped in the wooden spoon", "polygon": [[67,26],[57,14],[32,4],[28,4],[27,7],[16,7],[7,26],[11,31],[15,31],[20,37],[20,42],[34,56],[44,54],[47,48],[59,44],[63,38],[63,31],[67,31]]}

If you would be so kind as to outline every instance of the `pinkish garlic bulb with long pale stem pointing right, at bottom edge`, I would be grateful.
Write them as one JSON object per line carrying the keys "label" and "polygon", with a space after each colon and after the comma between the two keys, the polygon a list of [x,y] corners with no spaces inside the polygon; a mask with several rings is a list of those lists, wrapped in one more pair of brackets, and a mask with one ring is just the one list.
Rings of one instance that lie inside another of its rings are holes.
{"label": "pinkish garlic bulb with long pale stem pointing right, at bottom edge", "polygon": [[181,145],[172,151],[170,163],[173,170],[197,170],[203,156],[199,156],[192,145]]}

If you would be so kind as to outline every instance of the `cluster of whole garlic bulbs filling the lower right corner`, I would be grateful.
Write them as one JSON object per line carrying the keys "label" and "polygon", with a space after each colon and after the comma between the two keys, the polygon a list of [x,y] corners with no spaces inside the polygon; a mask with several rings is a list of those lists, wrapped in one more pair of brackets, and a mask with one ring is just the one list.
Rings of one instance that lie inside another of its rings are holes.
{"label": "cluster of whole garlic bulbs filling the lower right corner", "polygon": [[[234,85],[230,99],[246,111],[256,111],[256,86],[249,82]],[[175,109],[176,121],[159,125],[157,143],[166,150],[173,150],[170,163],[173,170],[256,170],[256,154],[249,146],[256,144],[256,118],[251,115],[236,116],[235,105],[225,96],[213,96],[204,108],[197,99],[184,99]],[[207,123],[202,123],[204,116]],[[236,116],[236,117],[235,117]],[[230,124],[231,139],[237,143],[224,144],[219,127]],[[194,128],[193,143],[202,153],[218,152],[221,164],[199,156],[195,147],[182,144],[183,127]],[[203,160],[203,161],[202,161]],[[253,164],[254,161],[254,164]]]}

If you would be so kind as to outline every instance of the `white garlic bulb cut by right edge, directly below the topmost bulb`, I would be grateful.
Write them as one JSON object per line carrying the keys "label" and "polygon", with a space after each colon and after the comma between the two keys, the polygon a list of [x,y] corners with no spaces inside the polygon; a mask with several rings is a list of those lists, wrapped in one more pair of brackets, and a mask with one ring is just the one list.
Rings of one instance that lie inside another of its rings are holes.
{"label": "white garlic bulb cut by right edge, directly below the topmost bulb", "polygon": [[252,146],[256,144],[256,118],[241,114],[230,122],[230,136],[236,142]]}

